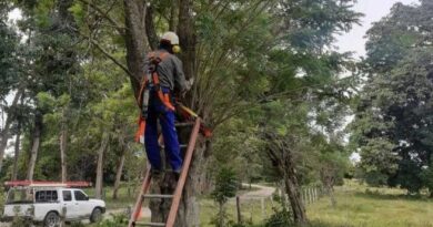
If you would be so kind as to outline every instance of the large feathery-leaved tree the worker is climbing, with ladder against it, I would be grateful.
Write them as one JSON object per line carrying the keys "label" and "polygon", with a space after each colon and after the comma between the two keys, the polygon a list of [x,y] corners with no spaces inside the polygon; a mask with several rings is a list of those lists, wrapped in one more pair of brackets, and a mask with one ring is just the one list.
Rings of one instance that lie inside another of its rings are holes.
{"label": "large feathery-leaved tree the worker is climbing, with ladder against it", "polygon": [[[184,71],[188,78],[195,79],[184,102],[214,130],[264,96],[283,93],[302,82],[306,85],[331,81],[328,72],[335,70],[321,71],[320,65],[339,68],[341,58],[325,49],[332,35],[349,29],[359,16],[350,10],[352,1],[173,2],[77,0],[71,10],[80,23],[80,34],[125,72],[135,95],[143,73],[143,56],[155,48],[157,33],[167,29],[177,31]],[[123,55],[113,54],[119,49],[124,50]],[[289,71],[291,76],[298,71],[318,76],[292,84],[293,78],[274,73],[266,65],[275,49],[288,52],[294,63],[288,66],[276,62],[281,69],[289,68],[281,71]],[[326,58],[320,60],[322,53]],[[296,66],[300,62],[304,62],[302,68]],[[203,138],[199,140],[181,202],[179,226],[199,225],[197,185],[201,176],[207,177],[202,167],[212,154],[208,145]],[[168,192],[173,189],[171,184],[161,185],[168,185]],[[152,220],[163,221],[167,204],[154,203],[151,209]]]}

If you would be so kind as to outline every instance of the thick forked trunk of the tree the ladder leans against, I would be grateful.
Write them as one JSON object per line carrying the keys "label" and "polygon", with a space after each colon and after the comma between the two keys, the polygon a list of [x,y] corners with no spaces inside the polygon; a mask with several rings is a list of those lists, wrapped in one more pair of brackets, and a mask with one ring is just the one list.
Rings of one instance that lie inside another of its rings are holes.
{"label": "thick forked trunk of the tree the ladder leans against", "polygon": [[[152,24],[145,24],[151,21],[145,20],[147,17],[147,1],[143,0],[123,0],[124,16],[125,16],[125,47],[127,47],[127,64],[130,75],[131,84],[134,90],[135,97],[140,90],[140,81],[143,75],[142,66],[144,63],[145,52],[149,51],[149,42],[145,38],[147,29]],[[178,33],[181,42],[181,47],[184,50],[181,59],[187,78],[194,76],[195,66],[195,35],[192,16],[192,0],[180,0],[179,10],[179,27]],[[152,37],[152,35],[151,35]],[[191,103],[190,103],[191,104]],[[190,172],[187,178],[187,183],[183,189],[182,199],[180,203],[177,227],[198,227],[199,225],[199,204],[198,195],[200,188],[201,173],[204,172],[203,159],[207,144],[204,141],[199,140],[195,146],[193,161],[191,163]],[[168,174],[162,180],[153,182],[152,189],[162,190],[164,194],[173,193],[175,182],[173,177]],[[164,199],[167,200],[167,199]],[[152,210],[152,221],[165,221],[170,208],[169,202],[153,200],[150,204]]]}

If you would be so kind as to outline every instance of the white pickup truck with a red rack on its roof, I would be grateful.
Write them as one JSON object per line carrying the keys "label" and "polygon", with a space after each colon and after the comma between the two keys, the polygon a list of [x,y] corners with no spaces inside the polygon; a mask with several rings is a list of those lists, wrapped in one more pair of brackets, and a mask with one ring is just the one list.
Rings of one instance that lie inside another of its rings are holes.
{"label": "white pickup truck with a red rack on its roof", "polygon": [[12,187],[8,192],[3,219],[16,216],[43,223],[44,227],[57,227],[64,220],[101,220],[105,203],[89,199],[81,189],[67,187]]}

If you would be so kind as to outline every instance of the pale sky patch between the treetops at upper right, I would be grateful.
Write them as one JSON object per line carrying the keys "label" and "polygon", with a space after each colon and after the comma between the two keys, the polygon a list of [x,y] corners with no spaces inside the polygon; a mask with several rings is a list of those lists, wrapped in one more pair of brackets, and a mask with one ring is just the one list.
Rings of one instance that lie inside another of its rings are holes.
{"label": "pale sky patch between the treetops at upper right", "polygon": [[390,12],[392,6],[396,2],[404,4],[417,3],[417,0],[358,0],[354,10],[365,14],[361,19],[361,25],[355,25],[349,33],[338,38],[335,45],[340,52],[354,52],[354,56],[365,55],[365,33],[372,27],[372,23],[381,20]]}

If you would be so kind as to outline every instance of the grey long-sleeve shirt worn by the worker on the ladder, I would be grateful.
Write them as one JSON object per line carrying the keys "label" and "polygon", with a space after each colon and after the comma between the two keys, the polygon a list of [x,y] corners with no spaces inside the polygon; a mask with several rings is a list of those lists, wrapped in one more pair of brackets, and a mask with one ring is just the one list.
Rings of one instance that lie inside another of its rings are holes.
{"label": "grey long-sleeve shirt worn by the worker on the ladder", "polygon": [[[160,85],[170,89],[170,91],[187,91],[187,80],[183,73],[182,61],[174,54],[161,49],[155,51],[158,56],[162,52],[165,52],[167,56],[158,64],[157,71],[160,80]],[[144,71],[149,69],[149,59],[144,62]]]}

